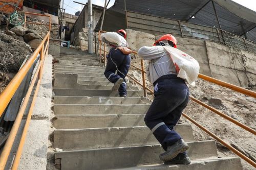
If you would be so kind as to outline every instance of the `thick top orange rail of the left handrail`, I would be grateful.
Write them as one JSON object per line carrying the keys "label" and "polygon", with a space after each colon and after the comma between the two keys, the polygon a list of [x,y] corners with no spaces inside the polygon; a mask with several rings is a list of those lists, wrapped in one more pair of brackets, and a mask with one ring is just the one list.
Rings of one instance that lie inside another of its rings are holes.
{"label": "thick top orange rail of the left handrail", "polygon": [[34,63],[37,55],[39,54],[39,51],[40,51],[42,45],[44,45],[44,43],[45,43],[45,41],[47,39],[47,36],[49,36],[49,34],[50,34],[50,32],[47,33],[47,35],[44,38],[44,40],[42,40],[42,42],[38,45],[38,47],[36,48],[34,53],[31,55],[31,57],[28,59],[28,61],[17,72],[17,74],[14,76],[14,78],[11,80],[11,82],[6,86],[4,91],[0,94],[0,101],[1,101],[0,116],[2,116],[2,114],[5,111],[7,105],[11,101],[12,96],[14,95],[16,90],[18,89],[20,83],[22,83],[24,77],[27,75],[27,72],[31,68],[32,64]]}

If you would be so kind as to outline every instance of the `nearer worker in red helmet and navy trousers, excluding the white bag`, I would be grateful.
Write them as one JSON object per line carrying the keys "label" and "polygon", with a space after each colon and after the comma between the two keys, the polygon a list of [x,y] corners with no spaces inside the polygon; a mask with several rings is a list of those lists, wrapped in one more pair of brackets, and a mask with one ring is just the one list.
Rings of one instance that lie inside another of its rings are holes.
{"label": "nearer worker in red helmet and navy trousers, excluding the white bag", "polygon": [[138,51],[140,58],[150,60],[147,78],[154,85],[155,95],[144,121],[165,150],[160,154],[160,160],[165,164],[189,164],[186,153],[188,144],[174,130],[182,110],[188,104],[189,89],[185,81],[177,77],[175,65],[164,45],[176,48],[177,40],[167,34],[157,40],[154,46],[143,46]]}

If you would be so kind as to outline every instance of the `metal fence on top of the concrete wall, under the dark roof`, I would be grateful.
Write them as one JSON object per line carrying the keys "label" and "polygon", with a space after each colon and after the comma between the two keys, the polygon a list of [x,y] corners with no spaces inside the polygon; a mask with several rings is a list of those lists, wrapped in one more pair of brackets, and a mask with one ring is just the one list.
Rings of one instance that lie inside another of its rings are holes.
{"label": "metal fence on top of the concrete wall, under the dark roof", "polygon": [[174,34],[176,37],[214,41],[256,54],[256,43],[215,27],[201,26],[180,20],[157,17],[136,12],[126,12],[128,29],[153,35]]}

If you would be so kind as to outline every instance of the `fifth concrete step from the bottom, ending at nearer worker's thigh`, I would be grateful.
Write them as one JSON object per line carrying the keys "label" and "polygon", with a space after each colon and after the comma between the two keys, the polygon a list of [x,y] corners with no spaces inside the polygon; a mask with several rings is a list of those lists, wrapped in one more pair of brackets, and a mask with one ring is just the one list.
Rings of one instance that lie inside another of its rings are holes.
{"label": "fifth concrete step from the bottom, ending at nearer worker's thigh", "polygon": [[54,114],[144,114],[150,105],[54,105]]}

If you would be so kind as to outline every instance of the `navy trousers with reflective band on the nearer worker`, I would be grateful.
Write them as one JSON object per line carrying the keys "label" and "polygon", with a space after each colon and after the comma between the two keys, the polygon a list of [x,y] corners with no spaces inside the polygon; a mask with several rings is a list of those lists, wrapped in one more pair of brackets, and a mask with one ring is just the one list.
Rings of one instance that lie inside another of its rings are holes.
{"label": "navy trousers with reflective band on the nearer worker", "polygon": [[189,100],[189,89],[177,75],[165,75],[154,83],[154,101],[144,121],[166,151],[182,137],[174,130]]}

